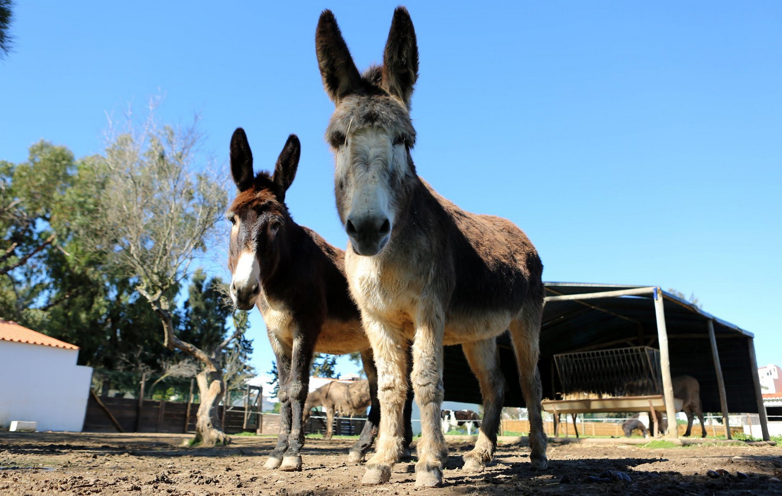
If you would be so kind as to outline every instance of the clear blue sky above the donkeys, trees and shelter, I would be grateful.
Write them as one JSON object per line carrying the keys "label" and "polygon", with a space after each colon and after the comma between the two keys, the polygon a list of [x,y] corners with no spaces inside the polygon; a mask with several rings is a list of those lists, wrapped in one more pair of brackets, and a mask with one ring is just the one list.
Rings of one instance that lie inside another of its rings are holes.
{"label": "clear blue sky above the donkeys, trees and shelter", "polygon": [[[406,5],[421,55],[422,177],[467,210],[515,221],[544,279],[694,293],[755,333],[759,365],[782,365],[782,4]],[[16,49],[0,62],[0,159],[25,160],[40,138],[97,153],[106,113],[162,92],[163,120],[200,114],[203,148],[225,174],[237,126],[256,168],[298,134],[287,203],[344,247],[315,26],[332,9],[363,68],[381,61],[395,6],[18,2]],[[225,275],[224,253],[210,260]],[[265,372],[258,312],[252,322]]]}

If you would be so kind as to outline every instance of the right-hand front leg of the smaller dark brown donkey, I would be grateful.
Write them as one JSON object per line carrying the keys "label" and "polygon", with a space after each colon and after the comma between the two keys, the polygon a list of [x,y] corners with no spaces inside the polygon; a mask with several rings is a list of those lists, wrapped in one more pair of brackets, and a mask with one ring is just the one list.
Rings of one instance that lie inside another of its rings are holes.
{"label": "right-hand front leg of the smaller dark brown donkey", "polygon": [[[320,327],[314,327],[319,329]],[[301,470],[301,448],[304,445],[303,412],[307,401],[307,389],[310,385],[310,365],[314,341],[317,332],[300,330],[293,338],[293,356],[291,358],[291,377],[288,383],[288,397],[291,404],[291,433],[288,437],[288,450],[282,457],[280,470],[287,472]]]}

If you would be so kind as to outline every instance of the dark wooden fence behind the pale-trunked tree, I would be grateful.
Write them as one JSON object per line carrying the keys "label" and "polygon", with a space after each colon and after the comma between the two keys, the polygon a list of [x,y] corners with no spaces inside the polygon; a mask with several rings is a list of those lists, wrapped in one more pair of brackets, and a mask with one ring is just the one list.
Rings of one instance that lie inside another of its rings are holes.
{"label": "dark wooden fence behind the pale-trunked tree", "polygon": [[[83,430],[85,432],[119,432],[120,429],[117,429],[111,418],[113,416],[121,430],[127,433],[186,433],[195,430],[195,412],[198,411],[198,408],[198,403],[156,400],[144,400],[139,408],[139,401],[135,399],[102,397],[96,400],[94,396],[90,396],[87,403],[87,414],[84,415]],[[217,415],[223,418],[223,407],[218,408]],[[258,416],[255,413],[249,415],[245,424],[244,409],[231,410],[229,408],[225,412],[223,429],[228,434],[246,430],[255,432],[258,428]],[[279,423],[277,432],[279,432]]]}

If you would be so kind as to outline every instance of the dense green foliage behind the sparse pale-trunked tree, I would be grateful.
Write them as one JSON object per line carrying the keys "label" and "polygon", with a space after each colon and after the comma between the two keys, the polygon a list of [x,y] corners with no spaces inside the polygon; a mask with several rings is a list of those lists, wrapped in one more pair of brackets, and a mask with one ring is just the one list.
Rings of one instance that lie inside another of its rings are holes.
{"label": "dense green foliage behind the sparse pale-trunked tree", "polygon": [[[45,141],[30,146],[23,163],[0,161],[0,318],[76,344],[80,365],[164,373],[181,353],[163,346],[160,318],[136,290],[138,278],[117,270],[84,235],[95,232],[108,179],[104,157],[76,160]],[[188,300],[173,311],[178,332],[196,346],[213,349],[226,337],[231,308],[222,286],[196,271]],[[180,289],[175,282],[163,297],[174,300]],[[251,352],[249,340],[226,350],[239,383],[252,372]]]}

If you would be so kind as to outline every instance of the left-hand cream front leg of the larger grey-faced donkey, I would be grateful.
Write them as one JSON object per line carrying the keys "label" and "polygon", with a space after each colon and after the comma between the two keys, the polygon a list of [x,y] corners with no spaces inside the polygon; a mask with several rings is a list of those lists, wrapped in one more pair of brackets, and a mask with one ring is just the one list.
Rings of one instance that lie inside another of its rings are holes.
{"label": "left-hand cream front leg of the larger grey-faced donkey", "polygon": [[400,337],[401,329],[368,315],[363,318],[364,329],[375,350],[381,415],[377,449],[367,461],[361,483],[378,484],[389,481],[391,467],[399,461],[404,449],[402,416],[407,396],[407,343]]}

